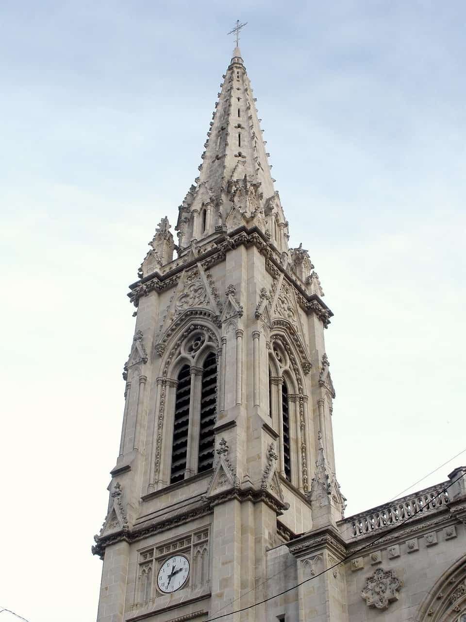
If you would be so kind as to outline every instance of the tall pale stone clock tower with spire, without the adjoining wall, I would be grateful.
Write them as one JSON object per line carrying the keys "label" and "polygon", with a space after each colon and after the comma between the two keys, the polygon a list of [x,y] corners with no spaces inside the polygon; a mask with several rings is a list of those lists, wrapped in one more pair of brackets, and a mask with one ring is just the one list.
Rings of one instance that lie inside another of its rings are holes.
{"label": "tall pale stone clock tower with spire, without the adjoining wall", "polygon": [[[288,246],[255,101],[236,47],[177,241],[162,218],[130,285],[121,444],[93,547],[98,622],[200,622],[253,605],[277,547],[342,519],[332,312],[308,251]],[[227,620],[276,620],[265,607]]]}

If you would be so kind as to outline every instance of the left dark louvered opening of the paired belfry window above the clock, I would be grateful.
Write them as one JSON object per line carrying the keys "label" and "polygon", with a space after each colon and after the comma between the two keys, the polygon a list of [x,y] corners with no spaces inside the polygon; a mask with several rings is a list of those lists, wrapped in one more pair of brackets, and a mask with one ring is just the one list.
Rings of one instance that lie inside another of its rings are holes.
{"label": "left dark louvered opening of the paired belfry window above the clock", "polygon": [[173,446],[171,448],[170,483],[185,478],[186,452],[188,450],[188,426],[190,421],[191,373],[188,365],[178,374],[175,397],[175,420],[173,422]]}

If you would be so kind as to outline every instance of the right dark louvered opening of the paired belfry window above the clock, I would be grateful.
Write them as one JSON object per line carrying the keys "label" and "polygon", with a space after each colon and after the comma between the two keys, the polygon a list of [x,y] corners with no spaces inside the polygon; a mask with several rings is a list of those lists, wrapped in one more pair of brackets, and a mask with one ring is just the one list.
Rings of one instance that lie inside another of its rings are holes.
{"label": "right dark louvered opening of the paired belfry window above the clock", "polygon": [[201,386],[198,473],[214,463],[214,425],[216,415],[217,360],[211,352],[204,361]]}

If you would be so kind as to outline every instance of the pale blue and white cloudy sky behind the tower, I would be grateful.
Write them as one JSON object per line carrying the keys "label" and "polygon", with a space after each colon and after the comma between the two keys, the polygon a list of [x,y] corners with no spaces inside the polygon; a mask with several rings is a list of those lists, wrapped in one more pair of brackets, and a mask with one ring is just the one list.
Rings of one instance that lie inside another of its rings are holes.
{"label": "pale blue and white cloudy sky behind the tower", "polygon": [[0,605],[96,618],[127,285],[198,174],[236,19],[291,246],[335,314],[347,516],[466,463],[450,460],[466,447],[462,0],[4,0],[0,16]]}

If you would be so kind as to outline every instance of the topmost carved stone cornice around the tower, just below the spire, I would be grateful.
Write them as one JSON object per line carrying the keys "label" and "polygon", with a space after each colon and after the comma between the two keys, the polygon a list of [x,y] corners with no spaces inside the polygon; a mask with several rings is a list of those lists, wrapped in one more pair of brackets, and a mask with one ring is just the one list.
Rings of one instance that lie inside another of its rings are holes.
{"label": "topmost carved stone cornice around the tower, just below the spire", "polygon": [[[255,246],[258,251],[267,258],[267,261],[273,264],[275,270],[283,272],[286,280],[290,282],[293,287],[298,291],[299,304],[306,313],[316,313],[316,315],[322,320],[324,326],[327,326],[333,313],[320,299],[317,294],[308,294],[304,289],[303,284],[299,281],[298,277],[295,277],[288,271],[280,262],[280,256],[273,249],[272,245],[268,241],[265,234],[257,227],[253,226],[247,228],[246,226],[240,226],[234,231],[231,231],[228,235],[221,233],[217,238],[212,241],[209,248],[193,257],[188,261],[183,262],[183,258],[173,261],[173,268],[168,269],[167,272],[155,271],[148,274],[146,277],[132,283],[130,287],[130,293],[128,294],[130,300],[137,305],[137,302],[141,296],[147,295],[151,291],[163,291],[178,282],[178,278],[185,269],[198,264],[203,265],[204,269],[215,265],[216,263],[223,261],[227,251],[238,246]],[[170,264],[168,264],[170,266]],[[167,267],[168,267],[167,266]]]}

